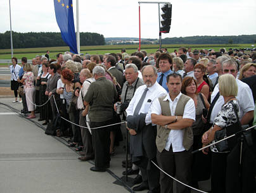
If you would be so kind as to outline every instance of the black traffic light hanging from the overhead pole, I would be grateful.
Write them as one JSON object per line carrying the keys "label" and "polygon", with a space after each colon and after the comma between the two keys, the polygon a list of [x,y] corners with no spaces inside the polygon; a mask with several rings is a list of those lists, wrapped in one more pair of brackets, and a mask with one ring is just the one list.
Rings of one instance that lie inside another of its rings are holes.
{"label": "black traffic light hanging from the overhead pole", "polygon": [[163,4],[162,6],[162,20],[161,20],[161,24],[162,27],[160,27],[160,32],[161,33],[169,33],[170,31],[170,23],[172,22],[172,4],[168,3],[168,4]]}

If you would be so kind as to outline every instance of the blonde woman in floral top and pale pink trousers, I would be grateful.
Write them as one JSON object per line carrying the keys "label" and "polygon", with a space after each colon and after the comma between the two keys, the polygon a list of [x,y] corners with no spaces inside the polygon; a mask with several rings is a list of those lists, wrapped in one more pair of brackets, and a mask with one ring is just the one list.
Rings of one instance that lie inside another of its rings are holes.
{"label": "blonde woman in floral top and pale pink trousers", "polygon": [[31,112],[27,118],[35,118],[35,86],[34,86],[34,73],[32,72],[33,68],[30,64],[25,64],[24,66],[24,75],[20,82],[25,82],[24,92],[26,94],[27,108]]}

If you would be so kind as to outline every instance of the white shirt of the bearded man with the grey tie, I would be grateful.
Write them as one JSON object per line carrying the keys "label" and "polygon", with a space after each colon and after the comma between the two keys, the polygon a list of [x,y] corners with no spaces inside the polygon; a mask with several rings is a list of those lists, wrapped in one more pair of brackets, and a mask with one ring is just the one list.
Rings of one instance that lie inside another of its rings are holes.
{"label": "white shirt of the bearded man with the grey tie", "polygon": [[[127,116],[133,115],[134,110],[135,110],[137,104],[139,103],[139,99],[141,99],[141,96],[145,89],[146,89],[146,85],[141,85],[140,87],[138,87],[138,89],[136,89],[134,96],[132,97],[132,100],[129,103],[129,106],[126,109]],[[163,89],[163,87],[160,86],[157,81],[155,82],[154,85],[152,85],[151,87],[148,87],[148,92],[146,93],[146,96],[145,96],[145,99],[141,106],[141,109],[139,110],[139,114],[147,113],[146,118],[145,118],[146,125],[151,123],[150,106],[152,104],[152,101],[160,96],[165,95],[165,94],[167,94],[167,91],[165,89]],[[150,101],[150,102],[148,102],[148,101]]]}

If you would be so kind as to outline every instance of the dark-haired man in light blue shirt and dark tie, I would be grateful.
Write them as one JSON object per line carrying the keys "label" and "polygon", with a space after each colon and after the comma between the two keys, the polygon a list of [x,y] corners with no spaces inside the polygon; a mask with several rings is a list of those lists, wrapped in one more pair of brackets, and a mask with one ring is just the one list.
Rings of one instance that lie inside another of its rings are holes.
{"label": "dark-haired man in light blue shirt and dark tie", "polygon": [[172,72],[172,57],[170,54],[162,53],[158,57],[159,69],[160,72],[157,73],[157,82],[160,84],[167,92],[167,76]]}

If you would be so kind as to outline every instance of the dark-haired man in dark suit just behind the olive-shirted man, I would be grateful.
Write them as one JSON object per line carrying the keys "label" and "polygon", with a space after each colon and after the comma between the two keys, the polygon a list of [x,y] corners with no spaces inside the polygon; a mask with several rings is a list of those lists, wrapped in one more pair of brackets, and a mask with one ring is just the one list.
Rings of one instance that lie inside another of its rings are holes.
{"label": "dark-haired man in dark suit just behind the olive-shirted man", "polygon": [[106,59],[104,61],[104,64],[106,66],[106,69],[112,73],[112,75],[117,79],[118,84],[122,87],[124,84],[124,78],[123,74],[117,70],[116,68],[117,61],[115,60],[115,57],[112,55],[106,56]]}

